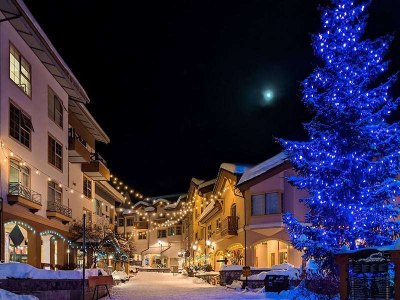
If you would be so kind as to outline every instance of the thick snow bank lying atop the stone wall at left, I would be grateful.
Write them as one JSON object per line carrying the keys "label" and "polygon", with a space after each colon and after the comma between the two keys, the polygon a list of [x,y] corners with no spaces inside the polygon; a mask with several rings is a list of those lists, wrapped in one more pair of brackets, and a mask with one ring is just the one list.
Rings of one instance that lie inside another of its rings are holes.
{"label": "thick snow bank lying atop the stone wall at left", "polygon": [[[85,278],[97,276],[98,270],[107,275],[103,269],[86,269]],[[0,263],[0,279],[26,278],[26,279],[82,279],[82,270],[44,270],[38,269],[27,263],[8,262]]]}

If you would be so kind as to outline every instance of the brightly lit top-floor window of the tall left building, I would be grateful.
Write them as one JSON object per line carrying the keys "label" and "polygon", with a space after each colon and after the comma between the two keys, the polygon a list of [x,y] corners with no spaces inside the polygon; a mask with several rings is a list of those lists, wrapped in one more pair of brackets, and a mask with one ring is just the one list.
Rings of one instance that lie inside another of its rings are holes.
{"label": "brightly lit top-floor window of the tall left building", "polygon": [[9,77],[23,92],[30,97],[30,64],[18,50],[9,45]]}

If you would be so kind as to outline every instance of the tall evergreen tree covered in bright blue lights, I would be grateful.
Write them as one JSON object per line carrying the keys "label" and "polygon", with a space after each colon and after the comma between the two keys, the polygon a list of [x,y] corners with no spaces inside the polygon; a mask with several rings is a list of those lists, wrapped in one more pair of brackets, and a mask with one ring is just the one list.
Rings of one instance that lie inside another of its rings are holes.
{"label": "tall evergreen tree covered in bright blue lights", "polygon": [[309,140],[277,139],[298,173],[287,181],[309,192],[300,199],[309,207],[305,223],[293,213],[283,222],[292,245],[322,266],[343,245],[392,244],[400,229],[399,122],[386,121],[399,101],[388,94],[396,77],[379,77],[392,36],[362,40],[370,1],[358,2],[321,8],[323,29],[311,44],[322,66],[301,83]]}

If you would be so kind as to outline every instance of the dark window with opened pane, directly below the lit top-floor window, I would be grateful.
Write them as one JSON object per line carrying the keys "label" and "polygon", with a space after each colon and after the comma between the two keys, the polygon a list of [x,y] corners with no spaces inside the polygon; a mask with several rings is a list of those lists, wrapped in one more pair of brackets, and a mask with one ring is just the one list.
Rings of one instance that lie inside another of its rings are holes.
{"label": "dark window with opened pane, directly below the lit top-floor window", "polygon": [[9,103],[9,135],[30,149],[30,134],[33,130],[30,117],[11,102]]}

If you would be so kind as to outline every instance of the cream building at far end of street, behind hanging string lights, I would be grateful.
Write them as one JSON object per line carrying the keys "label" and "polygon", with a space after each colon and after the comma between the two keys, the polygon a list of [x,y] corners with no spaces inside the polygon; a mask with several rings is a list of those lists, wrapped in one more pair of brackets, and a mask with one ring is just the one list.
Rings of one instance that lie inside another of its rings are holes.
{"label": "cream building at far end of street, behind hanging string lights", "polygon": [[134,263],[166,267],[179,264],[185,199],[184,195],[174,194],[116,208],[118,233],[134,241]]}

